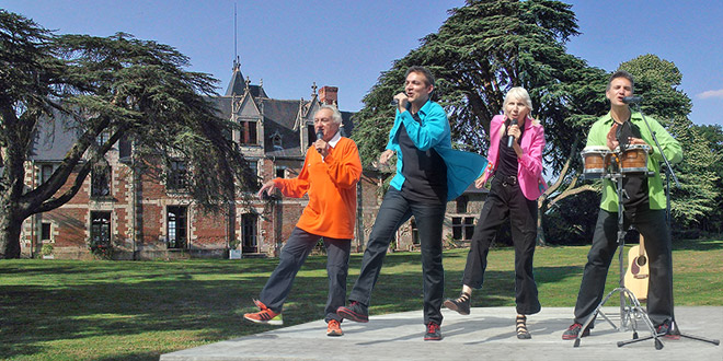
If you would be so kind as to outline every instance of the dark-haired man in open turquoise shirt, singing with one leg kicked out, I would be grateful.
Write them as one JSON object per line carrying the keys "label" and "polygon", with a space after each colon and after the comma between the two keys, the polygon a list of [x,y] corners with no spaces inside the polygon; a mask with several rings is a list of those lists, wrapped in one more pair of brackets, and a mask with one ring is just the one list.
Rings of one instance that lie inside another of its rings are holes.
{"label": "dark-haired man in open turquoise shirt, singing with one leg kicked out", "polygon": [[447,200],[455,199],[479,176],[486,160],[451,148],[447,114],[429,100],[434,77],[422,67],[406,71],[404,92],[394,96],[397,117],[389,132],[385,164],[397,154],[397,174],[379,207],[362,260],[359,278],[349,293],[348,307],[336,313],[354,322],[368,322],[368,306],[389,243],[397,229],[412,216],[422,248],[424,278],[424,340],[440,340],[445,271],[441,266],[441,230]]}

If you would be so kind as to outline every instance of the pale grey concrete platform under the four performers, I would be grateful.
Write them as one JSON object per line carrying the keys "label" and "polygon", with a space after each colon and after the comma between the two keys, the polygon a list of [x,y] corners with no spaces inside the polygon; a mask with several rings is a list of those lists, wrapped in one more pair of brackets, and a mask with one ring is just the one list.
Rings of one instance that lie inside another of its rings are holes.
{"label": "pale grey concrete platform under the four performers", "polygon": [[[619,306],[602,311],[620,326]],[[328,337],[323,321],[268,326],[266,333],[162,354],[160,360],[723,360],[723,347],[685,337],[662,339],[661,350],[652,339],[618,347],[632,331],[616,331],[601,317],[575,348],[574,341],[562,340],[572,323],[569,307],[542,307],[528,316],[528,340],[516,337],[514,307],[477,307],[469,316],[446,308],[443,313],[441,341],[423,340],[422,311],[412,311],[371,315],[367,324],[344,322],[342,337]],[[723,338],[723,307],[676,307],[676,318],[684,334]],[[244,326],[245,321],[238,322]],[[641,338],[651,335],[644,323],[638,325]]]}

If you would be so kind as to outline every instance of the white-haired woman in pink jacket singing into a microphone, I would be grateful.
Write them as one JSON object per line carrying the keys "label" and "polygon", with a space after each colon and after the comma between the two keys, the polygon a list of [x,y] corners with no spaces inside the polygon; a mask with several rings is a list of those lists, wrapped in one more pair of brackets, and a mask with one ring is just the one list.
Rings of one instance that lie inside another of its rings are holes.
{"label": "white-haired woman in pink jacket singing into a microphone", "polygon": [[527,91],[513,88],[505,96],[504,115],[492,118],[490,163],[475,180],[475,186],[482,188],[494,175],[492,187],[474,228],[462,292],[459,298],[445,301],[447,308],[469,315],[472,289],[482,288],[490,245],[502,223],[509,219],[515,244],[516,329],[519,339],[531,338],[526,315],[540,311],[532,256],[537,237],[537,198],[547,189],[542,178],[544,130],[530,117],[531,110],[532,102]]}

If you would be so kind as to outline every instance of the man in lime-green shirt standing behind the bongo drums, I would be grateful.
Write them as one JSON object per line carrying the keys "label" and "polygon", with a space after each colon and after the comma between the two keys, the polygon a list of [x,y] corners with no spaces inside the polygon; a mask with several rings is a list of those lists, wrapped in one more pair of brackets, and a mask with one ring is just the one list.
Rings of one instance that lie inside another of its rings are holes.
{"label": "man in lime-green shirt standing behind the bongo drums", "polygon": [[[680,144],[661,126],[657,120],[646,117],[650,129],[640,113],[632,113],[623,101],[633,94],[633,78],[627,71],[615,72],[608,82],[606,97],[610,101],[610,113],[600,117],[587,136],[587,145],[607,145],[611,151],[629,148],[649,150],[647,171],[626,174],[623,188],[623,229],[634,225],[645,238],[645,252],[650,265],[650,291],[647,314],[656,333],[675,337],[672,329],[673,314],[673,257],[670,231],[665,220],[666,197],[661,179],[663,155],[655,147],[651,130],[655,133],[663,153],[670,163],[680,162]],[[631,147],[632,145],[632,147]],[[562,339],[575,339],[589,335],[583,324],[602,300],[605,280],[612,257],[618,248],[618,194],[616,183],[604,179],[602,199],[598,213],[593,245],[587,254],[587,264],[575,304],[575,321],[562,334]]]}

